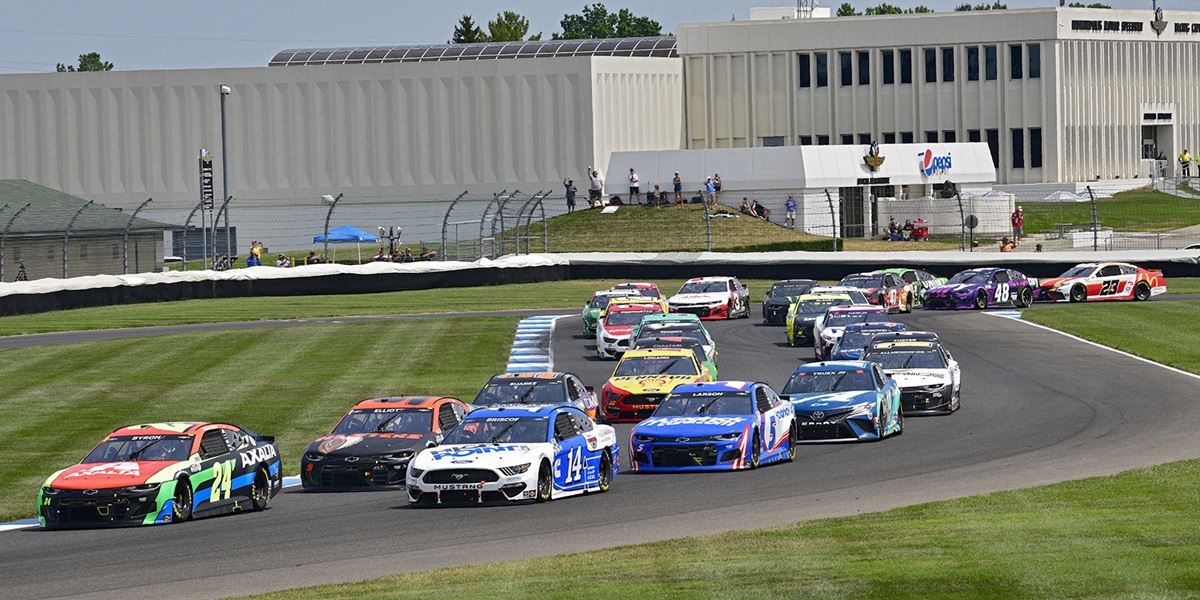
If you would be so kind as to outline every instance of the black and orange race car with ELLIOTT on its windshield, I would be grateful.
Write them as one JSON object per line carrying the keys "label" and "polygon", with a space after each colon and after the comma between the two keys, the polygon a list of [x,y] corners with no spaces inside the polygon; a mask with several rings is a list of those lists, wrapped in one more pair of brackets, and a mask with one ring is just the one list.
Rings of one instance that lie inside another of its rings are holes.
{"label": "black and orange race car with ELLIOTT on its windshield", "polygon": [[403,487],[408,461],[442,440],[469,407],[457,398],[401,396],[364,400],[300,458],[305,491]]}

